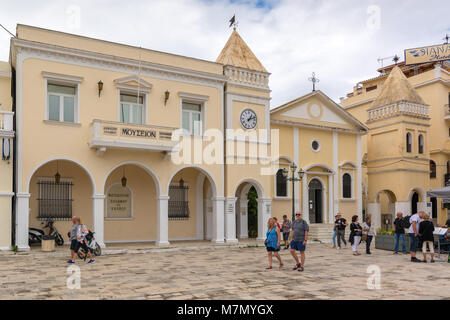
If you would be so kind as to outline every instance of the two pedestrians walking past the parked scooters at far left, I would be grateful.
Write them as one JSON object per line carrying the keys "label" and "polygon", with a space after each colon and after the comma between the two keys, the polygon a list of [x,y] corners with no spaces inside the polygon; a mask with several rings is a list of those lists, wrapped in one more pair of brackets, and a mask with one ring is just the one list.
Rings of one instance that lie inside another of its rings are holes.
{"label": "two pedestrians walking past the parked scooters at far left", "polygon": [[[92,264],[95,262],[94,256],[86,244],[86,235],[88,233],[89,229],[81,223],[80,217],[73,216],[72,228],[70,228],[70,231],[67,233],[67,236],[70,239],[71,257],[71,259],[68,260],[67,263],[74,264],[78,253],[80,253],[80,255],[84,257],[84,260],[86,260],[86,258],[89,258],[88,264]],[[80,251],[80,249],[84,250]]]}

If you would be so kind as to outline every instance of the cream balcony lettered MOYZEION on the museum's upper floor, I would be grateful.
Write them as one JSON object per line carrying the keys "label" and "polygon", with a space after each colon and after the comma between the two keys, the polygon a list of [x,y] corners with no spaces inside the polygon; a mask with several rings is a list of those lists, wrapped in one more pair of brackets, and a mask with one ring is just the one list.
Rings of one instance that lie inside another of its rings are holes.
{"label": "cream balcony lettered MOYZEION on the museum's upper floor", "polygon": [[107,148],[171,152],[176,144],[172,133],[177,128],[136,125],[93,120],[89,146],[102,155]]}

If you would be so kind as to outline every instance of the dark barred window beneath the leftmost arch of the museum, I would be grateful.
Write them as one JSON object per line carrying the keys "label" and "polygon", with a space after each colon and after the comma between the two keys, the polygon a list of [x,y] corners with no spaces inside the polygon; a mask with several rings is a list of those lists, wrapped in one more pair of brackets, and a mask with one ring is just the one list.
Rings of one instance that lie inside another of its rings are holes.
{"label": "dark barred window beneath the leftmost arch of the museum", "polygon": [[72,181],[39,179],[38,219],[70,220],[72,219]]}

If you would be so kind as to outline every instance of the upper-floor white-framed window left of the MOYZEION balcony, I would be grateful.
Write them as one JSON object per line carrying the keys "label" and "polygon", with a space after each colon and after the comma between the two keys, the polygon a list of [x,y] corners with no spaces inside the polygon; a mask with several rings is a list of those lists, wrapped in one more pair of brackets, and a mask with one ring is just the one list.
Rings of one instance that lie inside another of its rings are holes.
{"label": "upper-floor white-framed window left of the MOYZEION balcony", "polygon": [[75,87],[48,83],[47,95],[48,120],[75,122]]}

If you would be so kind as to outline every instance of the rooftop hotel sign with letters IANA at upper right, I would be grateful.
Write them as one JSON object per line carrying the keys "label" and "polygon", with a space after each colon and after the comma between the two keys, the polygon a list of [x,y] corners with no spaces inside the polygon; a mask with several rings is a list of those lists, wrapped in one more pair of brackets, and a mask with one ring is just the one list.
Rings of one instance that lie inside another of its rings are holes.
{"label": "rooftop hotel sign with letters IANA at upper right", "polygon": [[439,44],[405,50],[405,64],[414,65],[450,60],[450,44]]}

